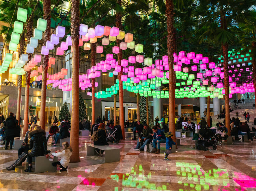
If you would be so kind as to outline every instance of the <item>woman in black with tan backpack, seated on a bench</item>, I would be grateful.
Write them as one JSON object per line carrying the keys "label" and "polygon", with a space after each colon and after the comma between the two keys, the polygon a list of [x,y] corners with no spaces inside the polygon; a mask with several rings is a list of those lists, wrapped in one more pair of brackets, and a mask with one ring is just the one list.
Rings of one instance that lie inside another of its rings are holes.
{"label": "woman in black with tan backpack, seated on a bench", "polygon": [[[105,129],[105,123],[101,123],[98,127],[98,130],[93,133],[91,136],[91,140],[93,141],[94,145],[109,145],[109,143],[106,142],[106,129]],[[103,150],[96,149],[96,153],[100,156],[103,154]]]}

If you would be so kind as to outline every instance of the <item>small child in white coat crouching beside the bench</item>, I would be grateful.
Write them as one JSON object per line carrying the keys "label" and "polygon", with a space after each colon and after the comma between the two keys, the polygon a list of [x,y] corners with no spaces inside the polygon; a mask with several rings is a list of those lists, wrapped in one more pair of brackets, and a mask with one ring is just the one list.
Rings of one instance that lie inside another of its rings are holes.
{"label": "small child in white coat crouching beside the bench", "polygon": [[55,151],[55,153],[52,153],[53,156],[61,158],[58,162],[53,162],[52,165],[56,167],[57,165],[60,168],[60,172],[67,171],[68,164],[70,161],[70,156],[72,155],[73,149],[69,147],[68,142],[62,143],[62,150]]}

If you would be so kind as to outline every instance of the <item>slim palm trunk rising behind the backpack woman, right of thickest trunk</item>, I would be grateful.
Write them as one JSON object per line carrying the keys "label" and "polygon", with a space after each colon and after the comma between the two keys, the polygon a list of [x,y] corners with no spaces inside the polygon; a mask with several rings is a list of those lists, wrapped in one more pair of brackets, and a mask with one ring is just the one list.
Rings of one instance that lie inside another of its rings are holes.
{"label": "slim palm trunk rising behind the backpack woman, right of thickest trunk", "polygon": [[[91,43],[91,66],[95,66],[96,44]],[[91,79],[92,103],[91,103],[91,125],[95,124],[95,78]]]}

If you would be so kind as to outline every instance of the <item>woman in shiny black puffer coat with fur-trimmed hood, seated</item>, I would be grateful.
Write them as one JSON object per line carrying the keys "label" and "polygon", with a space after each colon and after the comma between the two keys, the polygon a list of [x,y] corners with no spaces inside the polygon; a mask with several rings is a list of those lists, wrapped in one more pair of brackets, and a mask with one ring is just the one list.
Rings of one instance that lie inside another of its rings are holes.
{"label": "woman in shiny black puffer coat with fur-trimmed hood, seated", "polygon": [[41,126],[35,126],[34,130],[28,134],[28,167],[24,172],[31,172],[32,169],[32,157],[38,157],[46,155],[46,158],[49,157],[47,151],[47,143],[45,137],[44,129],[41,129]]}

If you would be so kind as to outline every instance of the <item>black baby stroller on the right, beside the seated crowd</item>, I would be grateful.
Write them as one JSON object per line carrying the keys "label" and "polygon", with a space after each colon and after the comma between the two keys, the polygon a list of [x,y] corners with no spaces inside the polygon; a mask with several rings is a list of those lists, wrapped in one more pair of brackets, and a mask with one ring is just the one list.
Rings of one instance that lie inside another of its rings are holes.
{"label": "black baby stroller on the right, beside the seated crowd", "polygon": [[211,129],[200,129],[199,135],[201,137],[198,140],[197,149],[207,151],[209,146],[212,146],[213,150],[217,149],[217,142]]}

